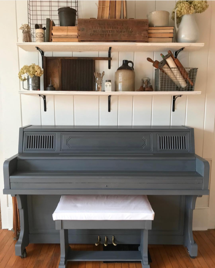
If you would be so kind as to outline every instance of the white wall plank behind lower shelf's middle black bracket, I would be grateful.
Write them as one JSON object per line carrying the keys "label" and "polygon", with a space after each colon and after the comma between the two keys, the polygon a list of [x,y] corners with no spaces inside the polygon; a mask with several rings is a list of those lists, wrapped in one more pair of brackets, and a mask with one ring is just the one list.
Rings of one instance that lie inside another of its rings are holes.
{"label": "white wall plank behind lower shelf's middle black bracket", "polygon": [[111,96],[111,111],[108,112],[108,96],[100,96],[99,124],[100,126],[117,126],[118,123],[118,96]]}

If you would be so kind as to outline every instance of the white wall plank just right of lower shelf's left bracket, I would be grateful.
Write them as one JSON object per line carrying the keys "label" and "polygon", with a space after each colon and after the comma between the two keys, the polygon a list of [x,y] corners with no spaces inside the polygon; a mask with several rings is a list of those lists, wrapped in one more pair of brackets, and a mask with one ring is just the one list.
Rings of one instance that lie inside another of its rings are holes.
{"label": "white wall plank just right of lower shelf's left bracket", "polygon": [[63,126],[74,125],[73,96],[56,95],[54,105],[55,124]]}

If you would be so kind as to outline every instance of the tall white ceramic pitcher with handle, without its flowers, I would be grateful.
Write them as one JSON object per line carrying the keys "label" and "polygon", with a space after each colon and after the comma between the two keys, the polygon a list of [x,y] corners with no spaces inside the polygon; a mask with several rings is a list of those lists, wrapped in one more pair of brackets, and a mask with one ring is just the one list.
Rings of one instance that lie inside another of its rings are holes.
{"label": "tall white ceramic pitcher with handle, without its flowers", "polygon": [[196,43],[199,37],[198,26],[195,21],[194,14],[186,14],[182,16],[179,27],[176,22],[175,10],[175,40],[178,43]]}

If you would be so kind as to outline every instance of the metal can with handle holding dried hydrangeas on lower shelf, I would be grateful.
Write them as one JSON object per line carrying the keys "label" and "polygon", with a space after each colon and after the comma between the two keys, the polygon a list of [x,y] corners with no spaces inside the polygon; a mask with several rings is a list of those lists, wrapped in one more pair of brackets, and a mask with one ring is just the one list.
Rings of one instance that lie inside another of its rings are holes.
{"label": "metal can with handle holding dried hydrangeas on lower shelf", "polygon": [[[43,71],[39,65],[32,63],[31,65],[24,65],[18,77],[22,81],[22,87],[25,90],[40,90],[40,77]],[[27,80],[27,88],[24,88],[24,81]]]}

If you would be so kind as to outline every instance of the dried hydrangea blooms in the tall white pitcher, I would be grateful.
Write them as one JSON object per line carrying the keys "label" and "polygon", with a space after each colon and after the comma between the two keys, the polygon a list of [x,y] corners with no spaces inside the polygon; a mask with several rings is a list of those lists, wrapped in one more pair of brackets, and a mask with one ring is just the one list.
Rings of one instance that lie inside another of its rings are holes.
{"label": "dried hydrangea blooms in the tall white pitcher", "polygon": [[175,10],[177,23],[181,22],[182,16],[186,14],[202,13],[209,7],[207,1],[178,1],[172,11],[172,19],[174,20]]}

